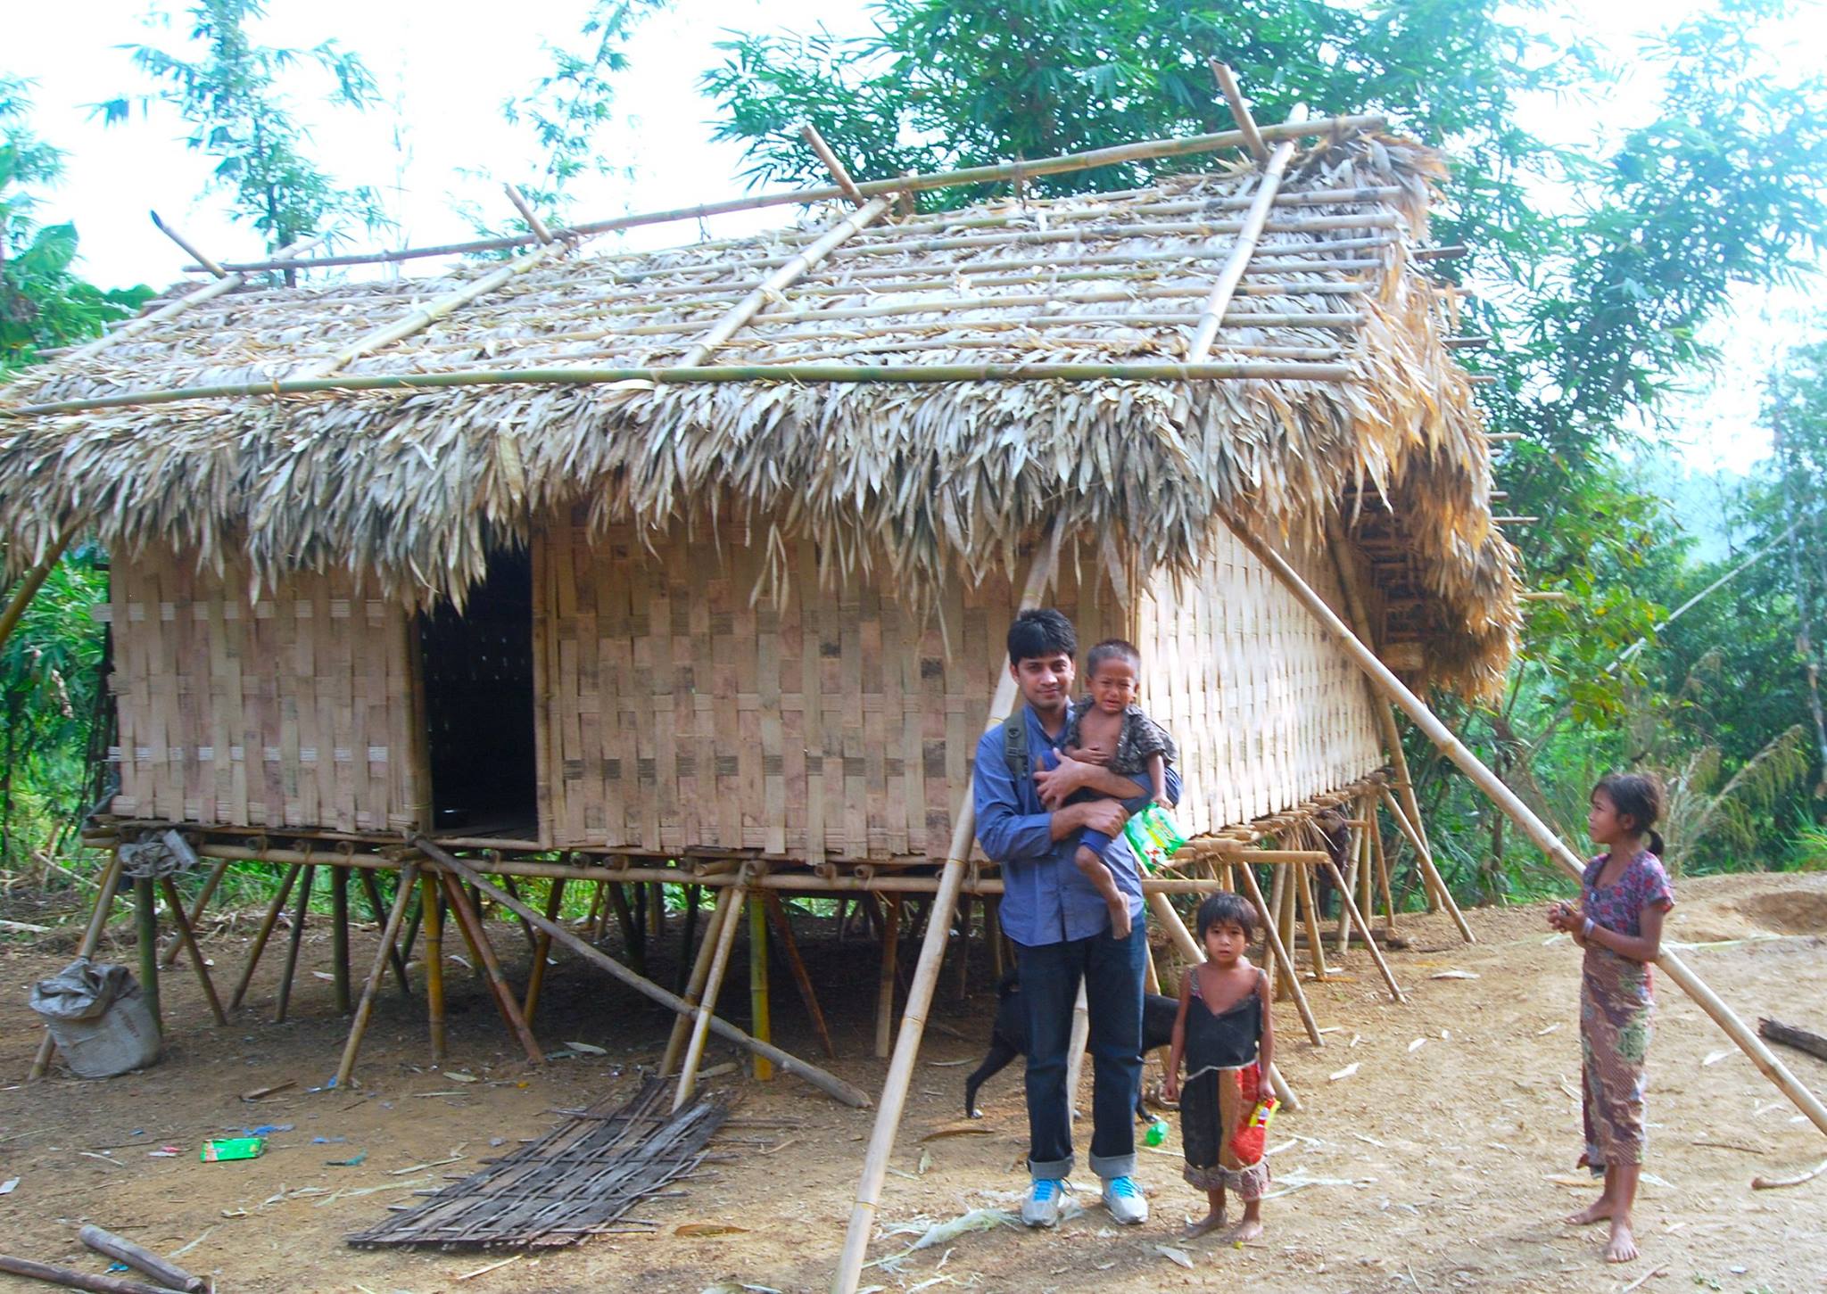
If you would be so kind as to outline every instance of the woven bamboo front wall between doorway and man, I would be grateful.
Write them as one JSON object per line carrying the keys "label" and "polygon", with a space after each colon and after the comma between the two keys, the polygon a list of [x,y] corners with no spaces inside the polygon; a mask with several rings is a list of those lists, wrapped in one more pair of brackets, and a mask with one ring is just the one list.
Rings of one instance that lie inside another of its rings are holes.
{"label": "woven bamboo front wall between doorway and man", "polygon": [[[550,839],[945,857],[1009,581],[952,587],[941,632],[881,585],[820,590],[809,545],[778,603],[751,603],[762,557],[738,528],[654,548],[623,528],[592,541],[581,517],[533,545]],[[1082,642],[1120,632],[1109,589],[1063,565],[1054,601]]]}

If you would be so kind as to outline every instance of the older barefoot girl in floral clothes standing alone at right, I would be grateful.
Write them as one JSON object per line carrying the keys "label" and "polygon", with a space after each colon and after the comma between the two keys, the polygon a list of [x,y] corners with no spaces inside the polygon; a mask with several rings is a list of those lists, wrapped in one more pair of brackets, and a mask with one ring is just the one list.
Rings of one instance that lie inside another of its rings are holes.
{"label": "older barefoot girl in floral clothes standing alone at right", "polygon": [[1606,852],[1586,864],[1580,907],[1557,903],[1547,923],[1586,949],[1580,974],[1580,1098],[1586,1153],[1580,1164],[1604,1173],[1604,1192],[1568,1221],[1611,1223],[1606,1261],[1637,1257],[1630,1210],[1642,1173],[1644,1060],[1655,998],[1650,963],[1663,949],[1663,917],[1675,905],[1657,857],[1663,786],[1641,773],[1611,773],[1591,793],[1586,830]]}

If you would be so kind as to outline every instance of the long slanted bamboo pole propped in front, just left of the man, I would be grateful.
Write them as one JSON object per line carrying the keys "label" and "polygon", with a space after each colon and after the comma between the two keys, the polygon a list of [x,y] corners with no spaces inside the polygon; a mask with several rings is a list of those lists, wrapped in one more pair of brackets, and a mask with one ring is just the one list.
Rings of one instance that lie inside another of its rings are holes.
{"label": "long slanted bamboo pole propped in front, just left of the man", "polygon": [[[1034,563],[1029,567],[1027,583],[1021,585],[1019,609],[1038,607],[1047,589],[1052,585],[1054,567],[1060,561],[1060,541],[1065,536],[1058,523],[1041,539]],[[996,678],[996,693],[990,696],[990,713],[983,731],[990,731],[1014,713],[1018,702],[1016,676],[1003,658],[1003,671]],[[870,1234],[875,1230],[875,1208],[882,1199],[882,1181],[888,1177],[888,1155],[895,1148],[895,1133],[901,1130],[901,1111],[906,1106],[908,1086],[914,1080],[914,1062],[919,1058],[919,1042],[926,1033],[926,1011],[932,1007],[932,991],[939,981],[939,963],[945,960],[945,945],[952,928],[952,910],[957,907],[957,894],[965,885],[965,868],[970,850],[977,839],[977,806],[972,790],[959,797],[957,813],[952,819],[952,843],[946,850],[945,868],[939,872],[939,890],[932,901],[932,914],[926,917],[926,936],[921,939],[919,963],[914,967],[914,983],[908,987],[906,1007],[901,1011],[901,1034],[895,1038],[895,1055],[888,1062],[888,1078],[882,1082],[881,1108],[875,1111],[875,1128],[870,1131],[870,1148],[862,1159],[862,1179],[857,1183],[857,1203],[850,1210],[850,1230],[844,1232],[844,1252],[837,1261],[837,1276],[831,1281],[835,1294],[857,1294],[857,1281],[862,1276],[862,1259],[870,1250]]]}

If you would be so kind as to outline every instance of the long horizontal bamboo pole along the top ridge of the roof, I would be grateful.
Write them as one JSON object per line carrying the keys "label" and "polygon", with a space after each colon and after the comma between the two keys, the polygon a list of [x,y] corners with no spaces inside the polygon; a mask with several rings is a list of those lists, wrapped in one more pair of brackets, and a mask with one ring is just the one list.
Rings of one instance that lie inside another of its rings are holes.
{"label": "long horizontal bamboo pole along the top ridge of the roof", "polygon": [[[1283,139],[1314,139],[1319,135],[1345,135],[1359,130],[1381,130],[1387,119],[1381,113],[1359,113],[1352,117],[1328,117],[1321,121],[1308,121],[1299,124],[1283,126],[1264,126],[1262,137],[1266,141]],[[1018,163],[999,163],[992,166],[966,166],[963,170],[946,172],[928,172],[915,175],[899,175],[895,179],[870,179],[857,185],[857,192],[864,197],[879,197],[882,194],[923,192],[928,188],[956,188],[963,185],[996,185],[1007,183],[1019,177],[1034,175],[1060,175],[1072,170],[1093,170],[1096,166],[1114,166],[1116,163],[1129,161],[1153,161],[1158,157],[1188,157],[1193,154],[1215,154],[1224,148],[1237,148],[1244,144],[1244,135],[1241,130],[1220,130],[1209,135],[1189,135],[1184,139],[1142,139],[1131,144],[1116,144],[1113,148],[1093,148],[1082,154],[1060,154],[1056,157],[1036,157],[1032,161]],[[566,228],[555,230],[559,238],[565,236],[590,236],[590,234],[608,234],[618,228],[634,228],[638,225],[663,225],[671,221],[700,221],[711,216],[727,216],[731,212],[760,210],[764,207],[809,207],[813,203],[828,203],[837,197],[844,197],[844,190],[829,185],[822,188],[795,188],[773,194],[755,194],[749,197],[733,197],[722,203],[702,203],[698,207],[676,207],[663,212],[643,212],[639,216],[616,216],[612,219],[586,221],[581,225],[570,225]],[[499,252],[510,247],[526,247],[535,241],[535,236],[508,236],[508,238],[482,238],[468,243],[444,243],[442,247],[406,247],[387,252],[354,252],[347,256],[320,256],[311,261],[301,261],[296,269],[323,269],[331,265],[387,265],[407,260],[418,260],[426,256],[464,256],[470,252]],[[294,252],[296,254],[296,252]],[[185,267],[186,270],[190,267]],[[263,269],[287,269],[287,265],[278,260],[265,261],[230,261],[225,265],[228,270],[263,270]]]}

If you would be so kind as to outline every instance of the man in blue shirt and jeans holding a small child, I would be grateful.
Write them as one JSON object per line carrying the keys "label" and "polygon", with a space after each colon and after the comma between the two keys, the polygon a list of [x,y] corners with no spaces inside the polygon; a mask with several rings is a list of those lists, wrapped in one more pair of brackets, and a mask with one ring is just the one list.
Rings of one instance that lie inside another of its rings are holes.
{"label": "man in blue shirt and jeans holding a small child", "polygon": [[[1034,1184],[1021,1206],[1021,1221],[1029,1226],[1060,1221],[1060,1192],[1072,1172],[1065,1067],[1080,980],[1094,1064],[1091,1170],[1104,1181],[1104,1203],[1116,1221],[1147,1221],[1147,1201],[1135,1183],[1147,934],[1142,879],[1122,828],[1129,811],[1147,802],[1149,788],[1061,753],[1076,652],[1072,621],[1058,610],[1025,610],[1016,618],[1009,627],[1009,671],[1027,702],[1021,711],[1025,762],[1034,771],[1016,775],[1009,733],[998,726],[977,742],[974,773],[977,841],[1001,866],[1003,932],[1016,945],[1019,1000],[1029,1025],[1029,1173]],[[1074,799],[1082,790],[1107,799]],[[1180,797],[1180,779],[1171,768],[1167,795]],[[1111,938],[1109,907],[1072,861],[1085,828],[1113,837],[1104,863],[1129,899],[1133,930],[1125,939]]]}

